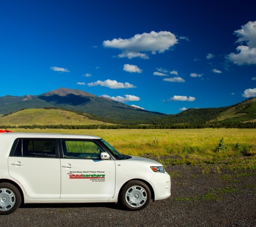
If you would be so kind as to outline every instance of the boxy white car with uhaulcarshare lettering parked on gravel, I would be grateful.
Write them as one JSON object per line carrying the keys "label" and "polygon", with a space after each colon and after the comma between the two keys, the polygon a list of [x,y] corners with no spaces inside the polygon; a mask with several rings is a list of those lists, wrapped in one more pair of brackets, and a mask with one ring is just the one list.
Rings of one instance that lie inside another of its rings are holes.
{"label": "boxy white car with uhaulcarshare lettering parked on gravel", "polygon": [[99,137],[0,133],[0,215],[22,202],[120,202],[140,210],[170,195],[163,165],[122,155]]}

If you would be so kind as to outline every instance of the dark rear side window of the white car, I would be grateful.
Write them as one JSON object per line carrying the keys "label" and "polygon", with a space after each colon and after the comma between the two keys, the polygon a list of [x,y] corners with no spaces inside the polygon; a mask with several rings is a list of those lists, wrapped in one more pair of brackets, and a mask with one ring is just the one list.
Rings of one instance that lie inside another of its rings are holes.
{"label": "dark rear side window of the white car", "polygon": [[19,139],[13,156],[56,158],[54,139]]}

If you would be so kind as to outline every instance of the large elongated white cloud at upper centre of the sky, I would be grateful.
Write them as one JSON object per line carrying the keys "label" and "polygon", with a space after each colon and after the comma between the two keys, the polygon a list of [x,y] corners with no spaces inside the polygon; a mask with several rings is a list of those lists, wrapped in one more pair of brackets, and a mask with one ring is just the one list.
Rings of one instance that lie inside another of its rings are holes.
{"label": "large elongated white cloud at upper centre of the sky", "polygon": [[151,52],[151,54],[163,53],[170,47],[178,43],[174,34],[168,31],[136,34],[129,39],[113,39],[103,41],[104,47],[118,48],[123,51],[119,58],[148,58],[148,55],[141,52]]}

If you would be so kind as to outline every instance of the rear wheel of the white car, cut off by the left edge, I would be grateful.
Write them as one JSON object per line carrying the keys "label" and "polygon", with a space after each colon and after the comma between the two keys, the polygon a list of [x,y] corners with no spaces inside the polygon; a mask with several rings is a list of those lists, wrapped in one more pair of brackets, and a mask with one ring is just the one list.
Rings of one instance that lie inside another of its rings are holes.
{"label": "rear wheel of the white car, cut off by the left edge", "polygon": [[22,202],[19,190],[10,183],[0,183],[0,215],[9,215]]}

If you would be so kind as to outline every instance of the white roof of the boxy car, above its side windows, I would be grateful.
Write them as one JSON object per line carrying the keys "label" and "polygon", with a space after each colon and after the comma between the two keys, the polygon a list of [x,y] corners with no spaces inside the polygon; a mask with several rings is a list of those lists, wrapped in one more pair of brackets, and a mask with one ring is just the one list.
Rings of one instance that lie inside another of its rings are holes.
{"label": "white roof of the boxy car, above its side windows", "polygon": [[101,139],[98,136],[79,134],[57,134],[57,133],[27,133],[27,132],[4,132],[0,137],[8,138],[56,138],[56,139]]}

